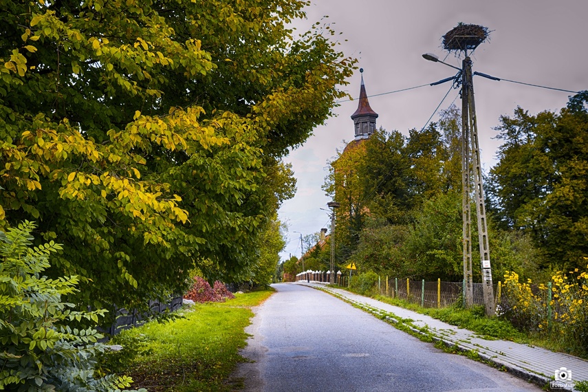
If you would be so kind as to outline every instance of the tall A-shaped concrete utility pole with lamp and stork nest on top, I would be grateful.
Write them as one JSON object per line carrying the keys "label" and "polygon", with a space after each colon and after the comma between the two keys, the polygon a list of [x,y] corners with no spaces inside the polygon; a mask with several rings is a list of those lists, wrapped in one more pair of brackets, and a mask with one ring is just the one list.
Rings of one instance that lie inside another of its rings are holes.
{"label": "tall A-shaped concrete utility pole with lamp and stork nest on top", "polygon": [[[482,33],[481,33],[482,32]],[[474,85],[472,81],[472,60],[468,56],[468,49],[473,50],[482,43],[486,37],[487,29],[477,25],[458,25],[445,36],[447,50],[464,51],[464,60],[461,69],[439,60],[435,54],[423,54],[423,58],[435,63],[442,63],[448,67],[459,70],[457,78],[461,81],[461,184],[462,184],[462,229],[464,251],[464,296],[466,306],[473,303],[472,286],[472,242],[471,242],[471,214],[470,214],[470,174],[474,178],[474,193],[476,200],[480,263],[483,279],[483,297],[486,305],[486,314],[494,315],[494,290],[492,287],[492,270],[490,268],[490,247],[488,245],[488,224],[486,219],[486,204],[484,200],[481,160],[478,142],[478,127],[474,101]],[[492,76],[476,73],[479,76]],[[471,153],[470,153],[470,140]],[[470,164],[470,154],[473,157],[473,165]],[[473,167],[472,167],[473,166]],[[473,169],[473,170],[472,170]]]}

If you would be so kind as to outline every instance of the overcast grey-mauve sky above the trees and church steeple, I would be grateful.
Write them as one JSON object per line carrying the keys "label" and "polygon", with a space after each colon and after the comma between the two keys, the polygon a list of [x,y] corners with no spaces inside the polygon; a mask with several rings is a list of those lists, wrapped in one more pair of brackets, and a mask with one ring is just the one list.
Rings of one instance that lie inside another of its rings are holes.
{"label": "overcast grey-mauve sky above the trees and church steeple", "polygon": [[[347,56],[358,58],[358,69],[344,87],[353,98],[360,90],[359,67],[364,69],[368,96],[433,83],[453,76],[454,70],[422,58],[432,52],[457,67],[461,59],[442,49],[442,36],[459,22],[486,26],[490,40],[475,50],[473,70],[498,78],[547,87],[580,91],[588,89],[587,0],[314,0],[307,20],[298,21],[300,32],[328,15],[329,23]],[[345,42],[344,40],[347,39]],[[450,88],[450,83],[410,91],[373,96],[371,108],[379,114],[377,127],[422,129]],[[502,115],[511,116],[517,106],[530,113],[559,111],[570,93],[509,83],[474,79],[479,142],[484,169],[496,163],[499,140],[495,139]],[[459,91],[450,91],[439,110],[452,102],[461,107]],[[288,226],[288,243],[282,259],[301,256],[300,234],[328,227],[329,198],[320,186],[327,162],[336,150],[353,139],[353,120],[358,101],[341,102],[337,116],[317,127],[314,135],[285,159],[292,162],[298,181],[296,196],[285,202],[279,218]],[[432,121],[438,120],[437,114]]]}

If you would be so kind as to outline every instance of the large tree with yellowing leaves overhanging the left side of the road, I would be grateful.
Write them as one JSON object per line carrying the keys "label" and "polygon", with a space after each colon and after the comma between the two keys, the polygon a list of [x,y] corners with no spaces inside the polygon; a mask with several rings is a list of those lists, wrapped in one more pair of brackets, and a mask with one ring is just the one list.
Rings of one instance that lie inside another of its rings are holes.
{"label": "large tree with yellowing leaves overhanging the left side of the road", "polygon": [[3,1],[0,225],[58,234],[53,273],[96,307],[180,290],[194,263],[238,277],[291,194],[279,158],[353,68],[332,30],[286,27],[305,4]]}

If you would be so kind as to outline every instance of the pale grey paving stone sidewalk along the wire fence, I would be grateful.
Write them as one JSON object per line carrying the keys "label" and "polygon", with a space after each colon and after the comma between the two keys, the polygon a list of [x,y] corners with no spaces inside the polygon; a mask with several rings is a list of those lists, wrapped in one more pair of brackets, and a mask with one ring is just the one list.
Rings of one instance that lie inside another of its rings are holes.
{"label": "pale grey paving stone sidewalk along the wire fence", "polygon": [[[571,371],[572,382],[588,380],[588,361],[582,360],[581,358],[506,340],[486,340],[467,329],[461,329],[430,316],[418,314],[402,307],[389,305],[373,298],[360,296],[333,287],[325,287],[324,284],[320,283],[305,282],[301,284],[320,287],[345,301],[349,301],[375,314],[384,315],[385,312],[403,319],[410,319],[412,320],[411,324],[415,327],[426,327],[427,333],[433,336],[433,339],[442,340],[446,345],[456,346],[461,350],[477,350],[480,358],[483,360],[488,360],[498,367],[505,368],[509,373],[535,382],[540,386],[549,384],[554,378],[555,371],[561,367],[565,367]],[[393,318],[389,320],[394,321]],[[413,329],[413,331],[422,334],[425,333],[417,328]],[[569,388],[554,390],[573,391],[573,389]]]}

